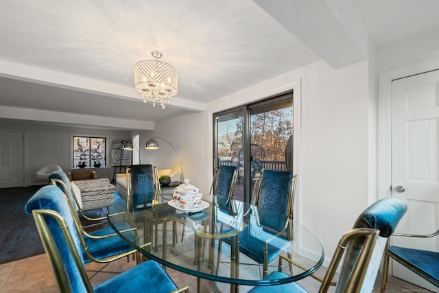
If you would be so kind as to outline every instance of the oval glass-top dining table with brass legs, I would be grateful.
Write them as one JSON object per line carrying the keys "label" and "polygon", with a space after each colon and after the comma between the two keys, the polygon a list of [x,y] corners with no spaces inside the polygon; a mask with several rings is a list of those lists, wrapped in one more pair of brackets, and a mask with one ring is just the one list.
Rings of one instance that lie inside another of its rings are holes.
{"label": "oval glass-top dining table with brass legs", "polygon": [[[239,292],[239,285],[297,281],[321,266],[322,244],[304,226],[288,220],[284,233],[272,233],[259,224],[260,208],[233,200],[231,208],[224,210],[215,202],[215,196],[203,195],[198,208],[191,210],[180,207],[174,200],[134,211],[122,208],[123,204],[113,204],[108,209],[108,222],[147,259],[197,277],[198,292],[202,279],[209,280],[215,292],[218,282],[230,284],[230,292]],[[276,220],[276,213],[262,212]],[[136,228],[136,242],[117,230],[115,224],[121,221]],[[281,249],[279,261],[274,259],[269,263],[268,273],[282,271],[285,278],[263,279],[262,265],[239,253],[240,239],[248,235],[262,240],[258,243],[266,242],[272,248]],[[219,242],[222,242],[221,253],[218,253]]]}

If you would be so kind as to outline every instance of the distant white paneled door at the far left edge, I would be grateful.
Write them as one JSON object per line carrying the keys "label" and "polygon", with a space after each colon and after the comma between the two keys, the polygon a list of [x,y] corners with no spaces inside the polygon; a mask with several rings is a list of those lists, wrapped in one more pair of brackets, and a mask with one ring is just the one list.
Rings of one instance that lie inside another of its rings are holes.
{"label": "distant white paneled door at the far left edge", "polygon": [[24,186],[23,132],[0,131],[0,188]]}

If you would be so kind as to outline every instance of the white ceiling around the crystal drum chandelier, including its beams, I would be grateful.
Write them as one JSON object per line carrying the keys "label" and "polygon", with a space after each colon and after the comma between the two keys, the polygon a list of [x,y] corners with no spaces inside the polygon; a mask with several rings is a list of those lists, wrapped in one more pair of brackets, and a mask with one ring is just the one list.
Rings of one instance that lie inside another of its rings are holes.
{"label": "white ceiling around the crystal drum chandelier, including its beams", "polygon": [[[431,30],[438,11],[437,0],[2,0],[0,117],[8,107],[184,115],[316,60],[364,60],[368,36],[381,47]],[[154,49],[178,71],[165,110],[143,104],[133,86],[134,65]]]}

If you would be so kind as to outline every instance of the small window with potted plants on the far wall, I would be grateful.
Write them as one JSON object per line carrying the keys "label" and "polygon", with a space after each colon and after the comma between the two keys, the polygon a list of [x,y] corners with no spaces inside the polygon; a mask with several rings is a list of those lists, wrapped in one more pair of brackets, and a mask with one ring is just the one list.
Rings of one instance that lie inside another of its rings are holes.
{"label": "small window with potted plants on the far wall", "polygon": [[106,167],[104,137],[73,137],[74,167]]}

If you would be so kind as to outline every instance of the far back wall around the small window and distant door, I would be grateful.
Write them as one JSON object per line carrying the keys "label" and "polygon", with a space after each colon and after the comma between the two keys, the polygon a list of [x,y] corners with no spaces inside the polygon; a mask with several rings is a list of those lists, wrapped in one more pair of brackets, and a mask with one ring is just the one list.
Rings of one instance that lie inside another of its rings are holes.
{"label": "far back wall around the small window and distant door", "polygon": [[49,126],[32,121],[0,121],[1,130],[23,131],[25,133],[25,184],[40,184],[34,178],[35,172],[43,165],[60,165],[64,172],[73,167],[71,138],[73,134],[107,138],[107,165],[110,165],[112,141],[127,140],[130,132],[110,131],[91,128]]}

